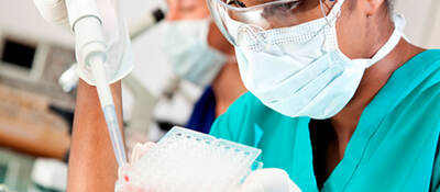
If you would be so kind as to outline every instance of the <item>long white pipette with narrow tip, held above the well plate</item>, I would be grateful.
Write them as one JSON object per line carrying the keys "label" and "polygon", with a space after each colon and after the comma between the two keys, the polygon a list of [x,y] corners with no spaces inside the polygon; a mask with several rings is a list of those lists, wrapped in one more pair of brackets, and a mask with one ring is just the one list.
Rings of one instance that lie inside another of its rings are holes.
{"label": "long white pipette with narrow tip, held above the well plate", "polygon": [[96,0],[66,0],[69,23],[75,32],[78,63],[90,68],[94,76],[99,101],[106,118],[114,156],[118,165],[127,162],[122,134],[114,110],[113,97],[106,75],[105,64],[108,61],[107,43],[103,35],[102,20]]}

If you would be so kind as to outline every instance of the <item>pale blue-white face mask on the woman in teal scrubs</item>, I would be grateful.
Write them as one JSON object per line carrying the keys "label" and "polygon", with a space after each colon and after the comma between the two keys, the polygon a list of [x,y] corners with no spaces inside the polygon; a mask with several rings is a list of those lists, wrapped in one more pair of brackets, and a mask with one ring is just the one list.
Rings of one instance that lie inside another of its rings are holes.
{"label": "pale blue-white face mask on the woman in teal scrubs", "polygon": [[[300,25],[256,33],[246,26],[237,33],[242,80],[265,105],[290,117],[332,117],[352,99],[365,69],[398,44],[405,20],[396,15],[393,35],[373,58],[346,57],[339,49],[336,30],[342,3],[339,0],[327,18]],[[258,35],[264,36],[263,44]]]}

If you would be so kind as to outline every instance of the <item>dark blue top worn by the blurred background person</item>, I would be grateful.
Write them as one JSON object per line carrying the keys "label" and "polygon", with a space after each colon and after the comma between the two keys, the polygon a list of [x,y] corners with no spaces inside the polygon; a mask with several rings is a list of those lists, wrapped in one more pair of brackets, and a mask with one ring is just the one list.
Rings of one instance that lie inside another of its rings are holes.
{"label": "dark blue top worn by the blurred background person", "polygon": [[212,87],[208,87],[196,102],[185,127],[208,134],[216,120],[216,95]]}

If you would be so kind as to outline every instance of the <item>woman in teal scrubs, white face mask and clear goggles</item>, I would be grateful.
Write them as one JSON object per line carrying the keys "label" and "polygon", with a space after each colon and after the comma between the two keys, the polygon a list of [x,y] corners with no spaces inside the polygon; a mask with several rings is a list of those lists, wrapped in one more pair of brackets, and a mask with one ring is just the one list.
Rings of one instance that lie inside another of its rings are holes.
{"label": "woman in teal scrubs, white face mask and clear goggles", "polygon": [[[389,1],[208,3],[250,90],[212,135],[261,148],[302,191],[440,191],[440,50],[403,38]],[[68,187],[110,191],[117,165],[84,81],[76,110]]]}

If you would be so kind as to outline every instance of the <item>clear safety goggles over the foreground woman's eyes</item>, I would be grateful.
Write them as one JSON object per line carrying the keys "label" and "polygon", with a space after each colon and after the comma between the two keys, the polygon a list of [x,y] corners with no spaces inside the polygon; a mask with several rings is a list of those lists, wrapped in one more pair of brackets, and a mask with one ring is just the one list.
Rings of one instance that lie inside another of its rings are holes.
{"label": "clear safety goggles over the foreground woman's eyes", "polygon": [[[208,0],[208,5],[216,24],[231,44],[239,47],[258,44],[270,46],[266,49],[274,49],[271,47],[273,39],[267,39],[268,36],[274,36],[273,33],[323,18],[330,24],[332,21],[329,20],[337,18],[343,0],[330,0],[331,3],[322,1],[324,0]],[[310,37],[317,33],[304,31]],[[271,32],[272,35],[267,35]]]}

